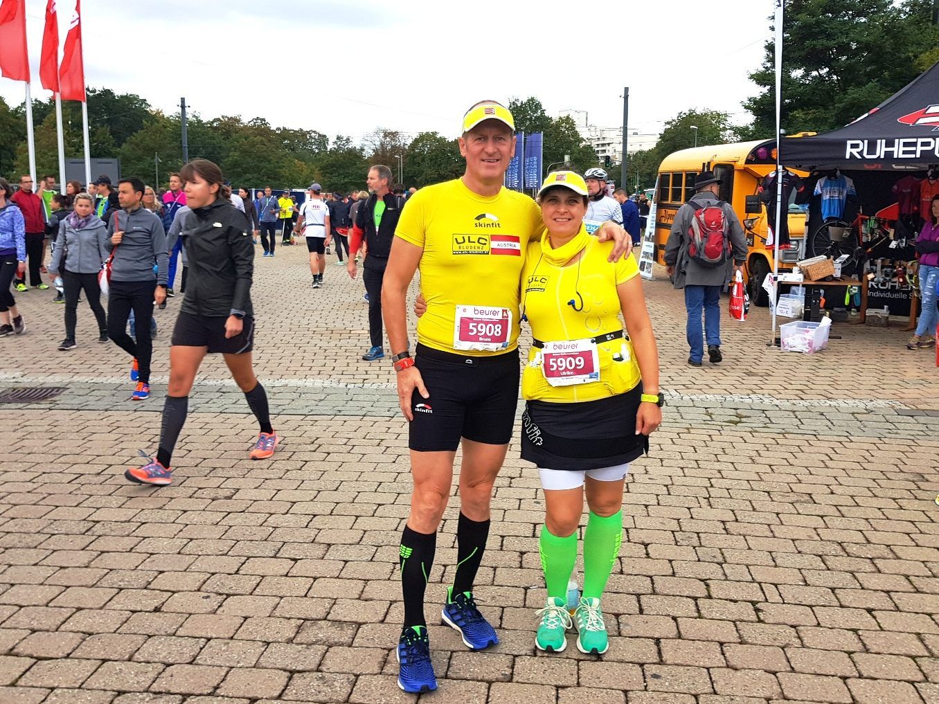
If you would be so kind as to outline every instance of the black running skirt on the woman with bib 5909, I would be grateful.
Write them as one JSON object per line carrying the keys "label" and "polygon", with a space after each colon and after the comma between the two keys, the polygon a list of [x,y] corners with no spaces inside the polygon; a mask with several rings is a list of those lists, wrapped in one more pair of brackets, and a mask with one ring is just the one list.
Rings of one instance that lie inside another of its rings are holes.
{"label": "black running skirt on the woman with bib 5909", "polygon": [[522,414],[522,459],[545,469],[615,467],[649,453],[636,435],[642,384],[617,396],[576,404],[529,401]]}

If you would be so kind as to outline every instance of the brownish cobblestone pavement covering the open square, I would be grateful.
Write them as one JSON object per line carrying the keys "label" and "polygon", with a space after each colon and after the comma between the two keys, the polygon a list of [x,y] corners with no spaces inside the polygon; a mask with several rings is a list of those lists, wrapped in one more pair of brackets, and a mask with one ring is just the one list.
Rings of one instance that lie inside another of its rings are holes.
{"label": "brownish cobblestone pavement covering the open square", "polygon": [[[0,406],[0,704],[415,700],[394,683],[409,478],[393,374],[359,360],[362,284],[330,265],[312,290],[305,259],[256,260],[276,460],[246,459],[256,427],[208,359],[160,490],[121,474],[155,449],[178,298],[158,313],[153,398],[132,404],[127,360],[94,342],[85,306],[62,353],[61,307],[18,297],[27,333],[0,341],[0,389],[66,390]],[[440,689],[422,698],[939,702],[932,353],[897,327],[841,325],[822,354],[781,354],[756,310],[725,317],[723,364],[693,369],[680,294],[646,291],[669,406],[628,478],[608,653],[533,648],[543,503],[514,443],[477,589],[502,642],[469,652],[432,624]],[[456,515],[429,605],[453,577]]]}

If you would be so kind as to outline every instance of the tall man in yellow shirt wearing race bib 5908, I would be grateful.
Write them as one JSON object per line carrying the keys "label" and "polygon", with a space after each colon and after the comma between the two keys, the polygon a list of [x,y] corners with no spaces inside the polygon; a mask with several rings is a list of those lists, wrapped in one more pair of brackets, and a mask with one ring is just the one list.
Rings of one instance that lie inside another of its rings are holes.
{"label": "tall man in yellow shirt wearing race bib 5908", "polygon": [[[405,618],[398,685],[406,692],[437,688],[423,594],[461,442],[458,563],[442,618],[471,650],[499,642],[476,608],[472,585],[488,537],[493,483],[516,418],[519,280],[528,243],[542,229],[534,201],[502,187],[514,132],[512,114],[499,103],[485,100],[469,109],[459,138],[466,172],[408,200],[385,271],[385,328],[398,401],[409,421],[414,482],[400,546]],[[628,250],[622,227],[605,224],[602,233],[622,243],[617,257]],[[405,298],[418,268],[427,310],[418,323],[415,360]]]}

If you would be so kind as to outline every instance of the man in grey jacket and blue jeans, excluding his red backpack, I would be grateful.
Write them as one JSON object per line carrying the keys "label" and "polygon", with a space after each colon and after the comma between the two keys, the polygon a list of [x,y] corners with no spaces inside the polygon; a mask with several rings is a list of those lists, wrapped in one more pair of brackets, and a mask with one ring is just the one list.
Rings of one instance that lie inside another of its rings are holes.
{"label": "man in grey jacket and blue jeans, excluding his red backpack", "polygon": [[[665,245],[665,263],[671,283],[675,288],[685,289],[687,339],[690,348],[688,364],[694,367],[700,367],[704,357],[704,336],[707,338],[708,358],[711,362],[717,364],[723,359],[720,352],[720,291],[747,260],[744,228],[731,205],[720,200],[720,183],[714,172],[700,173],[695,181],[695,194],[675,214],[669,241]],[[731,256],[723,264],[709,268],[688,254],[688,233],[695,212],[702,207],[715,206],[718,203],[724,213],[724,232],[725,237],[730,239]],[[704,311],[704,336],[701,335],[701,309]]]}

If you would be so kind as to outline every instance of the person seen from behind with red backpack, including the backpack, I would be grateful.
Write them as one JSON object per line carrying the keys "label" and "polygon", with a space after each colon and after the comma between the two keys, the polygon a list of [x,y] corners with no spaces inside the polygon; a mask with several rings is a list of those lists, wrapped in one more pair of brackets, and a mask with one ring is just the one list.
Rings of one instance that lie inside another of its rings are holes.
{"label": "person seen from behind with red backpack, including the backpack", "polygon": [[[688,314],[688,364],[700,367],[707,338],[708,359],[723,360],[720,351],[720,290],[747,260],[744,228],[731,204],[720,199],[721,181],[702,171],[695,194],[678,209],[665,245],[665,264],[675,288],[685,289]],[[701,335],[701,310],[704,335]]]}

